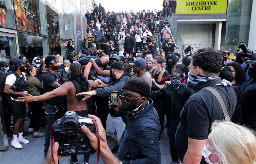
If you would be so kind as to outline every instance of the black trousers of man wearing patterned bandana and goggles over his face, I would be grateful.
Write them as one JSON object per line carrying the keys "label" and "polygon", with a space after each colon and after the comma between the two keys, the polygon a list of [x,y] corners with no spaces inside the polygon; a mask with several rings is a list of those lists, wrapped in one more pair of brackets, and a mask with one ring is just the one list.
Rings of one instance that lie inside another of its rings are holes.
{"label": "black trousers of man wearing patterned bandana and goggles over his face", "polygon": [[179,157],[178,157],[178,152],[175,146],[175,134],[177,131],[178,124],[170,124],[168,123],[168,128],[167,128],[167,135],[170,140],[170,153],[171,153],[171,158],[173,161],[178,162]]}

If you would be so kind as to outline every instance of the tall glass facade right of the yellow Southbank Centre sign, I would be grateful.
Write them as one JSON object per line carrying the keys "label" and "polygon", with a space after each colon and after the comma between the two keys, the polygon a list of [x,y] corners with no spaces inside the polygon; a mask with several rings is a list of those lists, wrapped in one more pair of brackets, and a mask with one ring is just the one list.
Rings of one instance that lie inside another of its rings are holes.
{"label": "tall glass facade right of the yellow Southbank Centre sign", "polygon": [[240,42],[248,44],[253,0],[229,0],[225,50],[235,50]]}

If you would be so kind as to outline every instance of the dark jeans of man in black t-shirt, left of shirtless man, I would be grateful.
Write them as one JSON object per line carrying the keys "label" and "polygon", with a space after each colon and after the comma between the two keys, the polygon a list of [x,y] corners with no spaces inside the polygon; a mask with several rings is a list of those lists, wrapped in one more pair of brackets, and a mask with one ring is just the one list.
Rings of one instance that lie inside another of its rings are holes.
{"label": "dark jeans of man in black t-shirt, left of shirtless man", "polygon": [[46,115],[46,127],[45,127],[45,149],[48,150],[50,146],[50,130],[51,126],[57,119],[63,117],[64,108],[62,103],[57,105],[45,104],[45,115]]}

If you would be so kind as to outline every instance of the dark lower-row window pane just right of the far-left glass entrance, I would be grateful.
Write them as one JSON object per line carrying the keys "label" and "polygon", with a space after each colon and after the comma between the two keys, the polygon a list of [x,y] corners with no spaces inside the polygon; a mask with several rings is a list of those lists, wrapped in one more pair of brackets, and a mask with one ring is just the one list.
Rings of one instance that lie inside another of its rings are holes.
{"label": "dark lower-row window pane just right of the far-left glass entrance", "polygon": [[31,33],[18,32],[19,53],[31,63],[34,57],[49,55],[48,38]]}

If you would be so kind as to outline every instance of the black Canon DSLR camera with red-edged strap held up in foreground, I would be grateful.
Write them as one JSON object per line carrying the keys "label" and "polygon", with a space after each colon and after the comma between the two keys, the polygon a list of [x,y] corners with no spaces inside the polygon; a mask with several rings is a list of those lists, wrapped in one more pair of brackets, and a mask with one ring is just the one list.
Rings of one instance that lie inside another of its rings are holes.
{"label": "black Canon DSLR camera with red-edged strap held up in foreground", "polygon": [[88,137],[81,131],[81,126],[87,126],[95,133],[93,119],[80,117],[74,111],[67,111],[56,121],[53,128],[54,141],[59,143],[60,156],[93,154],[96,151],[90,144]]}

